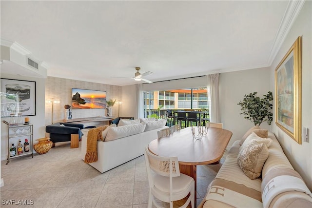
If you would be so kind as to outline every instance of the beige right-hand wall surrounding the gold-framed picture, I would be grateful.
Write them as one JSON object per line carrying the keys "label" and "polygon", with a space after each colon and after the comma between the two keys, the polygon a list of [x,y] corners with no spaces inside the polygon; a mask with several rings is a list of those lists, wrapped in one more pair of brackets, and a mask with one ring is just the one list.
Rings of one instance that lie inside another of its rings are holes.
{"label": "beige right-hand wall surrounding the gold-framed picture", "polygon": [[[301,124],[309,128],[309,143],[296,143],[284,131],[273,124],[273,132],[278,137],[283,150],[292,166],[297,170],[312,190],[312,1],[306,1],[293,26],[286,36],[278,54],[271,65],[271,90],[274,91],[274,73],[278,63],[283,59],[293,42],[302,37],[302,100]],[[274,114],[275,116],[275,114]]]}

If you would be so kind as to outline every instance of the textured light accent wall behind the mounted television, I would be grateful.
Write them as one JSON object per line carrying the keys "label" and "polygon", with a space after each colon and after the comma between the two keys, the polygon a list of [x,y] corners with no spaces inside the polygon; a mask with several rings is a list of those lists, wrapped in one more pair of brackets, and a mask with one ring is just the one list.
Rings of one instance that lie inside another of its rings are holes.
{"label": "textured light accent wall behind the mounted television", "polygon": [[[51,98],[59,100],[54,104],[53,122],[60,122],[65,118],[64,105],[72,104],[72,88],[106,91],[107,99],[121,100],[121,86],[102,83],[90,83],[78,80],[48,77],[45,82],[45,101]],[[88,118],[106,115],[105,109],[73,109],[72,118]],[[120,112],[121,115],[121,112]],[[113,107],[113,117],[118,116],[118,105]],[[52,104],[45,103],[45,125],[51,124]]]}

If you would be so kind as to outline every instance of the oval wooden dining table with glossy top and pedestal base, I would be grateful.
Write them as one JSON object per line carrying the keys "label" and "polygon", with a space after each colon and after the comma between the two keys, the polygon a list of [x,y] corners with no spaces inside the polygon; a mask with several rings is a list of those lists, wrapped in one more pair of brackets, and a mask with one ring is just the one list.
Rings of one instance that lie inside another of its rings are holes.
{"label": "oval wooden dining table with glossy top and pedestal base", "polygon": [[[177,157],[180,172],[195,180],[196,166],[218,162],[232,137],[232,132],[222,128],[210,127],[200,139],[193,138],[193,127],[186,127],[168,136],[153,140],[148,149],[161,157]],[[194,127],[197,134],[197,127]]]}

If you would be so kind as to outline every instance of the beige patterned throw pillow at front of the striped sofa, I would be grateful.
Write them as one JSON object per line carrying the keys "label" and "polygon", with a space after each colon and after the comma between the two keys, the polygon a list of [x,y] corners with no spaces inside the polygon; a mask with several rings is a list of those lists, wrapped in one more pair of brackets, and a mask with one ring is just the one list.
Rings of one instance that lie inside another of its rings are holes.
{"label": "beige patterned throw pillow at front of the striped sofa", "polygon": [[246,176],[256,179],[261,175],[262,167],[268,156],[268,147],[264,143],[258,144],[253,141],[239,151],[237,163]]}

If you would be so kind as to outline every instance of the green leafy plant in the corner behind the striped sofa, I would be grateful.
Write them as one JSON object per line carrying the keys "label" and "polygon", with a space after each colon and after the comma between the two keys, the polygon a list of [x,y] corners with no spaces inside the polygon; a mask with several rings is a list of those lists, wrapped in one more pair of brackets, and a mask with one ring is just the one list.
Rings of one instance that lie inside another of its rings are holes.
{"label": "green leafy plant in the corner behind the striped sofa", "polygon": [[245,95],[243,101],[238,103],[243,111],[240,114],[246,115],[244,118],[253,122],[254,125],[259,126],[263,122],[271,125],[273,121],[272,101],[273,94],[270,91],[263,98],[258,97],[257,92]]}

